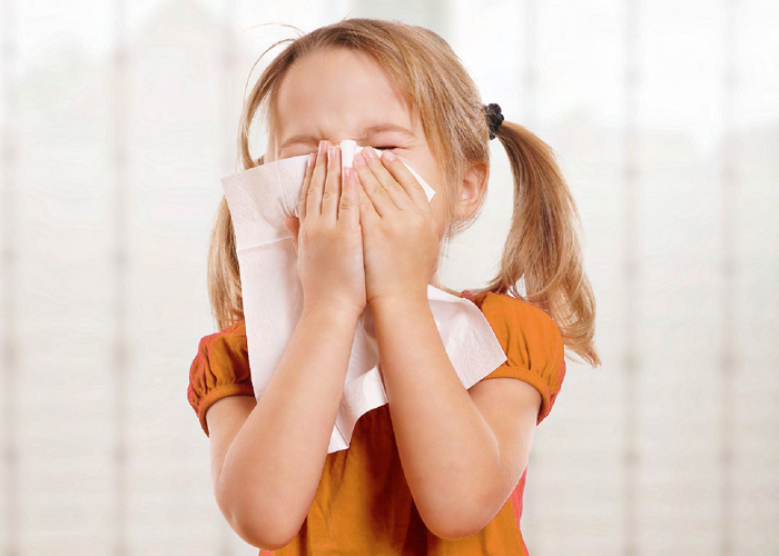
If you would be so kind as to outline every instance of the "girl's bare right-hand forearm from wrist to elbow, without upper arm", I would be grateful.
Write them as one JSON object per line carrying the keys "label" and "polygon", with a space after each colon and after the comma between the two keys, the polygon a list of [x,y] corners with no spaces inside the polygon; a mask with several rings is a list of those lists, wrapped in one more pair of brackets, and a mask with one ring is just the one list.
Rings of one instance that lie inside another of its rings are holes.
{"label": "girl's bare right-hand forearm from wrist to elbow, without upper arm", "polygon": [[427,298],[372,309],[397,449],[420,514],[467,520],[452,512],[489,496],[497,439],[448,359]]}

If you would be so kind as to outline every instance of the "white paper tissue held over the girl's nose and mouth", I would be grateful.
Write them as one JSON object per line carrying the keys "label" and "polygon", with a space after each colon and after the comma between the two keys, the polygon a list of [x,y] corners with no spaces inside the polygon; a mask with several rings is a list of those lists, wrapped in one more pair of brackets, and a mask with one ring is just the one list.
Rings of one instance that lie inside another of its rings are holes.
{"label": "white paper tissue held over the girl's nose and mouth", "polygon": [[[354,155],[363,148],[346,139],[341,149],[342,166],[351,167]],[[257,399],[276,370],[303,311],[297,254],[284,219],[298,216],[307,158],[286,158],[221,179],[235,228],[249,369]],[[427,200],[432,199],[435,190],[408,169],[425,189]],[[474,302],[430,285],[427,297],[446,354],[465,388],[506,360],[490,322]],[[366,306],[355,329],[327,453],[348,448],[357,419],[386,403],[373,314]]]}

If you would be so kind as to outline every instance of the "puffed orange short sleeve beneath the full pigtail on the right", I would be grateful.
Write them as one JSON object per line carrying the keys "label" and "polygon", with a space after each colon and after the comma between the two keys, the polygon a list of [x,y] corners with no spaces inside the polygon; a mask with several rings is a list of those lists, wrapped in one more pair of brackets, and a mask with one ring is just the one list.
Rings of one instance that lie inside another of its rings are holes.
{"label": "puffed orange short sleeve beneath the full pigtail on the right", "polygon": [[482,380],[516,378],[539,390],[538,426],[552,410],[565,378],[565,349],[556,322],[539,307],[504,294],[487,291],[474,302],[506,354],[506,361]]}

